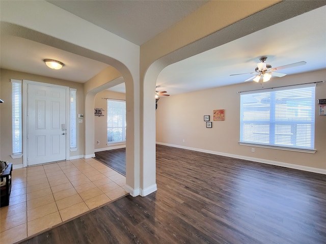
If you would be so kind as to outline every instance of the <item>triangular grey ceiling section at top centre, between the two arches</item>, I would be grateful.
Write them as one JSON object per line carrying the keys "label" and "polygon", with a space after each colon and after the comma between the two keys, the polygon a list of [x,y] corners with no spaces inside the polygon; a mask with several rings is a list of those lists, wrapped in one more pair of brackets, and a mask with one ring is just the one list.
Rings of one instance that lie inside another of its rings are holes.
{"label": "triangular grey ceiling section at top centre, between the two arches", "polygon": [[208,1],[47,1],[142,45]]}

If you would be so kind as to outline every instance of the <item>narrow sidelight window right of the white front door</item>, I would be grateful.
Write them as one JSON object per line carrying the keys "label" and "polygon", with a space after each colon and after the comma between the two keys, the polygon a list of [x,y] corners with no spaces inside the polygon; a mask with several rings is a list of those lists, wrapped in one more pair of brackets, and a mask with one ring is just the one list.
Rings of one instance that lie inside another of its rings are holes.
{"label": "narrow sidelight window right of the white front door", "polygon": [[69,123],[70,123],[70,150],[77,149],[77,138],[76,138],[76,92],[74,88],[69,90]]}

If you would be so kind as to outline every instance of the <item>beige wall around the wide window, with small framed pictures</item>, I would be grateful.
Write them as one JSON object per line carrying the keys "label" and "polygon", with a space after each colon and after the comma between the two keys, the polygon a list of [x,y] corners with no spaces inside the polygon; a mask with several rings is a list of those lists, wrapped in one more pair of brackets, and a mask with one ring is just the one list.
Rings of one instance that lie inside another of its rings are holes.
{"label": "beige wall around the wide window, with small framed pictures", "polygon": [[[321,70],[272,78],[264,84],[264,87],[325,79],[326,70]],[[315,112],[316,154],[262,147],[255,147],[255,153],[252,153],[251,146],[238,144],[240,95],[237,92],[260,88],[260,84],[247,82],[161,98],[156,110],[156,141],[177,147],[326,173],[326,116],[319,116],[317,104]],[[318,83],[316,100],[325,96],[326,83]],[[214,109],[225,109],[225,121],[212,121]],[[211,129],[206,128],[204,115],[210,115]]]}

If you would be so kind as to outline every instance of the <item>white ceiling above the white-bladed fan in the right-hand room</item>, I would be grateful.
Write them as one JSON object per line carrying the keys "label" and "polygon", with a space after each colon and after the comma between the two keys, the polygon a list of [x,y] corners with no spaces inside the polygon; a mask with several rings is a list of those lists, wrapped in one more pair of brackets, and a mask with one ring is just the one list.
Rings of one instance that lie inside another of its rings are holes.
{"label": "white ceiling above the white-bladed fan in the right-hand room", "polygon": [[157,84],[160,89],[179,94],[241,83],[253,74],[230,75],[255,72],[262,56],[267,57],[266,63],[272,67],[307,62],[279,71],[288,75],[325,69],[326,7],[170,65],[161,71]]}

